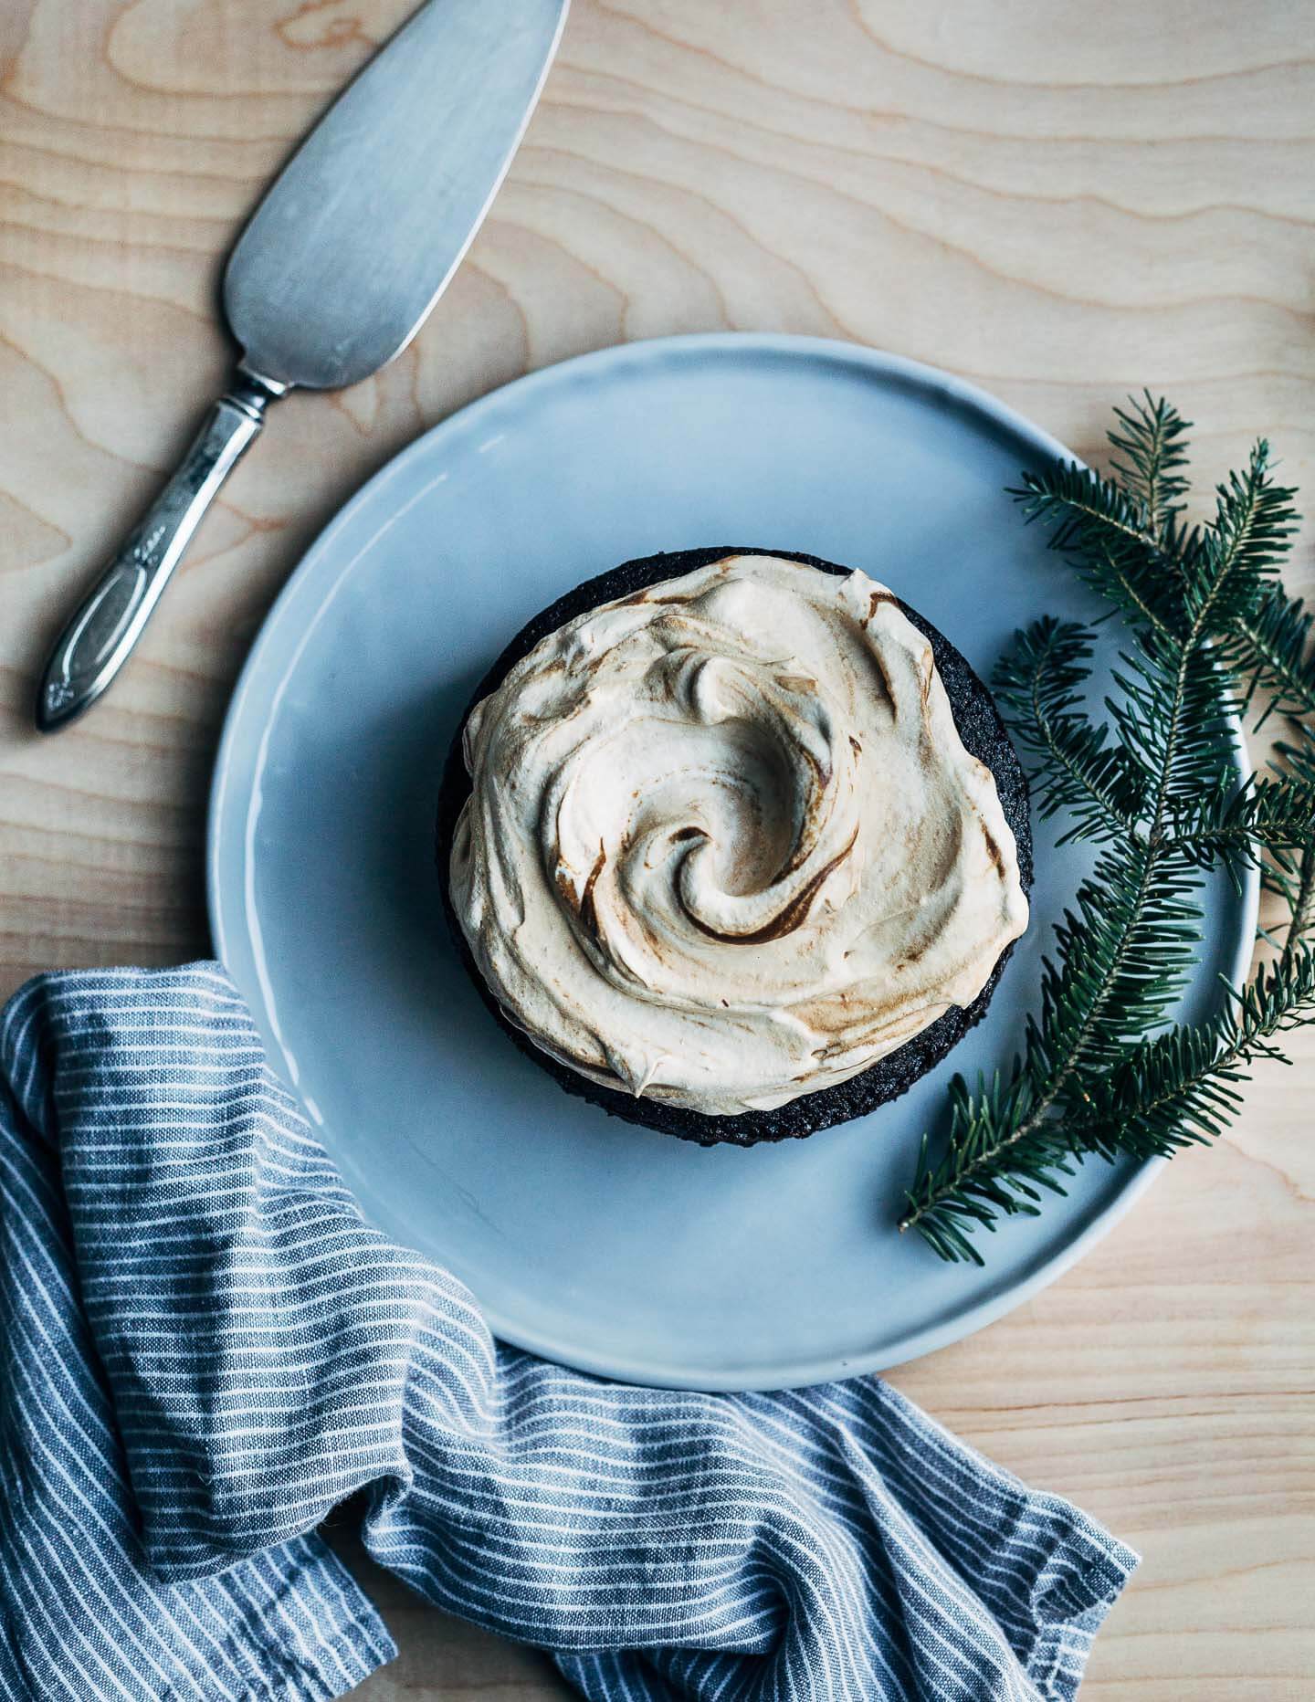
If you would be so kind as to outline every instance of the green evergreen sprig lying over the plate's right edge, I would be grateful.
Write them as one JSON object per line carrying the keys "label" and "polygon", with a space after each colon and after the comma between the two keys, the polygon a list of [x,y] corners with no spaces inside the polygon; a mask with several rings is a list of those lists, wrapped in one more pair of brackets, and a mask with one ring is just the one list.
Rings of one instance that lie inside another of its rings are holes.
{"label": "green evergreen sprig lying over the plate's right edge", "polygon": [[[1085,706],[1089,626],[1036,621],[993,677],[1039,815],[1067,812],[1060,842],[1101,851],[1055,929],[1012,1071],[956,1077],[948,1137],[922,1140],[900,1227],[946,1259],[983,1263],[975,1234],[1036,1215],[1087,1157],[1216,1139],[1252,1064],[1315,1019],[1315,616],[1278,580],[1295,492],[1261,441],[1216,488],[1213,519],[1187,528],[1187,422],[1150,395],[1116,420],[1111,478],[1060,463],[1014,492],[1126,637],[1104,722]],[[1233,715],[1257,703],[1288,739],[1272,774],[1238,785]],[[1198,962],[1206,871],[1223,863],[1237,880],[1262,861],[1288,905],[1278,957],[1245,989],[1225,985],[1208,1021],[1169,1025]]]}

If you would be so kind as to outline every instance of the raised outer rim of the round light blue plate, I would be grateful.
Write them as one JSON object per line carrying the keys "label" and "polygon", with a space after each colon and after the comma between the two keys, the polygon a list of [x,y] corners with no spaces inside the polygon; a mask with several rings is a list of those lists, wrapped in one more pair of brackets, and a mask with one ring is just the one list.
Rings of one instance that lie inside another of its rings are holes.
{"label": "raised outer rim of the round light blue plate", "polygon": [[[881,349],[873,349],[859,342],[847,342],[835,337],[810,337],[791,332],[684,332],[669,337],[648,337],[636,339],[633,342],[609,344],[602,349],[590,349],[583,354],[570,356],[565,361],[538,368],[532,373],[524,373],[519,378],[473,398],[456,412],[444,415],[444,419],[437,420],[434,426],[418,432],[410,443],[390,456],[383,466],[376,468],[376,471],[371,473],[340,504],[332,519],[320,529],[320,533],[316,533],[287,574],[287,579],[279,587],[255,637],[252,638],[225,710],[206,805],[206,911],[214,951],[225,967],[228,965],[230,940],[240,931],[240,907],[235,911],[231,929],[226,928],[226,909],[221,892],[223,883],[219,868],[223,812],[226,805],[230,771],[235,761],[238,723],[243,720],[247,698],[252,696],[265,669],[269,652],[276,642],[276,633],[287,620],[289,608],[299,596],[305,582],[315,572],[320,557],[332,548],[337,534],[350,524],[357,512],[369,502],[376,500],[378,494],[391,483],[393,478],[403,473],[412,460],[420,460],[424,454],[432,453],[434,443],[441,443],[444,436],[458,436],[461,431],[470,429],[470,426],[478,420],[480,414],[493,414],[509,403],[517,405],[522,398],[531,397],[541,388],[570,383],[578,376],[589,376],[594,369],[624,366],[626,361],[648,364],[662,361],[669,354],[704,354],[711,357],[772,354],[806,363],[823,361],[827,364],[847,364],[862,369],[864,376],[869,380],[900,380],[920,390],[929,390],[942,398],[949,398],[985,415],[992,424],[1022,437],[1039,454],[1072,461],[1077,466],[1085,466],[1080,456],[1073,454],[1067,444],[1053,437],[1041,426],[1036,426],[1026,415],[1019,414],[990,391],[956,376],[954,373],[948,373],[944,368],[932,366],[925,361],[914,361],[907,356],[891,354]],[[376,540],[371,540],[371,545],[366,548],[373,546],[374,541]],[[359,553],[340,568],[340,577],[345,577],[345,574],[352,570],[357,558]],[[281,694],[281,688],[296,667],[298,657],[310,638],[313,625],[315,623],[311,621],[306,626],[306,631],[299,635],[299,642],[296,642],[294,635],[294,642],[289,647],[274,688],[276,701]],[[1232,718],[1232,739],[1233,761],[1238,768],[1238,776],[1245,776],[1245,773],[1249,773],[1249,764],[1242,722],[1238,717]],[[1233,958],[1228,972],[1235,985],[1244,984],[1255,950],[1259,892],[1259,871],[1247,868],[1242,877],[1238,940],[1233,948]],[[279,1071],[269,1057],[265,1057],[265,1062],[270,1071],[279,1076]],[[282,1081],[281,1076],[279,1079]],[[289,1091],[299,1099],[296,1086]],[[1024,1305],[1043,1288],[1050,1287],[1050,1283],[1063,1276],[1065,1271],[1072,1270],[1072,1266],[1077,1265],[1090,1251],[1090,1248],[1096,1246],[1096,1242],[1102,1241],[1104,1236],[1107,1236],[1109,1231],[1133,1208],[1167,1164],[1169,1159],[1152,1157],[1141,1161],[1140,1164],[1128,1166],[1126,1179],[1113,1200],[1109,1200],[1109,1203],[1104,1205],[1079,1234],[1067,1241],[1063,1248],[1053,1253],[1048,1259],[1043,1259],[1028,1276],[1022,1276],[1014,1283],[1007,1283],[1000,1292],[965,1305],[961,1311],[956,1311],[951,1319],[942,1317],[912,1336],[900,1338],[898,1351],[893,1356],[886,1350],[874,1350],[868,1355],[856,1353],[852,1356],[837,1356],[832,1353],[813,1360],[791,1362],[789,1365],[742,1367],[740,1370],[723,1377],[711,1377],[708,1374],[682,1375],[674,1367],[655,1365],[646,1362],[643,1356],[597,1356],[587,1350],[582,1351],[570,1343],[555,1339],[551,1333],[521,1329],[514,1319],[504,1317],[497,1307],[487,1305],[478,1299],[478,1295],[476,1305],[480,1307],[480,1312],[492,1333],[510,1346],[522,1348],[524,1351],[536,1353],[541,1358],[548,1358],[555,1363],[589,1372],[597,1377],[646,1387],[749,1392],[800,1389],[828,1382],[837,1377],[869,1375],[888,1370],[895,1365],[912,1363],[914,1360],[924,1358],[939,1348],[963,1341],[966,1336],[976,1334],[999,1317],[1004,1317],[1005,1314]]]}

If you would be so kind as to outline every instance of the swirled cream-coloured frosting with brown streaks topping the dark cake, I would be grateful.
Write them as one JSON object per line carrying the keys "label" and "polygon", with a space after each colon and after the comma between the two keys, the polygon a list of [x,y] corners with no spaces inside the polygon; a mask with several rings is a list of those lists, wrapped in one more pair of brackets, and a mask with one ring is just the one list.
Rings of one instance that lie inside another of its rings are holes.
{"label": "swirled cream-coloured frosting with brown streaks topping the dark cake", "polygon": [[708,1115],[857,1074],[1028,924],[922,633],[864,574],[728,557],[568,621],[473,710],[451,894],[507,1014]]}

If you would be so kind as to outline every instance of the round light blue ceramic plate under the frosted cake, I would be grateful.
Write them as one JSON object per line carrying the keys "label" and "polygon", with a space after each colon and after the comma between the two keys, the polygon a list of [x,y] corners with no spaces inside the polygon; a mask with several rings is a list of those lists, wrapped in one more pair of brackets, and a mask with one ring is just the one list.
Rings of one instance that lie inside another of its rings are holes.
{"label": "round light blue ceramic plate under the frosted cake", "polygon": [[[703,1151],[565,1094],[444,933],[439,771],[476,681],[566,587],[697,545],[861,567],[987,674],[1043,611],[1097,613],[1004,495],[1062,444],[968,385],[849,344],[677,337],[583,356],[412,444],[320,538],[219,749],[209,904],[274,1067],[366,1212],[470,1283],[507,1341],[650,1384],[754,1389],[944,1346],[1077,1259],[1152,1179],[1090,1164],[985,1271],[895,1231],[953,1071],[1007,1065],[1089,851],[1038,831],[1033,926],[990,1014],[895,1105]],[[1240,975],[1255,894],[1208,892],[1201,970]]]}

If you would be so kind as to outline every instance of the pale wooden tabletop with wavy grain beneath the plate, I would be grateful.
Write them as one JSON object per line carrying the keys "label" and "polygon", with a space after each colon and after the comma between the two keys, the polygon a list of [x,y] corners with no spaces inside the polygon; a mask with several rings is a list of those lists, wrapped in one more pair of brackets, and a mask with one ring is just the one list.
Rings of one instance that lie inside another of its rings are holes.
{"label": "pale wooden tabletop with wavy grain beneath the plate", "polygon": [[[272,594],[367,473],[527,368],[665,332],[818,332],[963,373],[1082,454],[1150,385],[1199,422],[1203,477],[1264,431],[1315,504],[1300,0],[577,0],[425,332],[376,380],[279,405],[128,676],[39,740],[48,640],[223,381],[240,220],[408,9],[0,5],[0,992],[206,953],[206,783]],[[1090,1661],[1099,1702],[1315,1695],[1315,1047],[1298,1054],[1077,1270],[893,1379],[1143,1551]],[[357,1561],[401,1644],[369,1702],[565,1693]]]}

